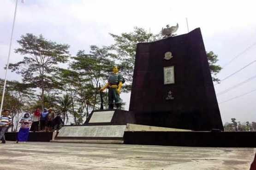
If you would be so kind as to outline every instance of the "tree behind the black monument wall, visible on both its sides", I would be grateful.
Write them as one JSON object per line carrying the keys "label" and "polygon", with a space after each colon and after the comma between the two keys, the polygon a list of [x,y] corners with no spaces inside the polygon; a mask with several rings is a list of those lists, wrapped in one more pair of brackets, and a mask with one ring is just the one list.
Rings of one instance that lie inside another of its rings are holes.
{"label": "tree behind the black monument wall, visible on both its sides", "polygon": [[[131,91],[131,81],[133,77],[134,63],[137,43],[140,42],[150,42],[161,39],[161,34],[152,34],[147,33],[143,28],[135,27],[134,30],[130,33],[122,33],[121,35],[110,34],[115,40],[115,44],[112,45],[113,49],[117,51],[118,58],[120,60],[119,68],[123,71],[124,77],[127,80],[124,88],[128,91]],[[215,65],[218,61],[217,55],[212,51],[207,52],[208,63],[210,66],[210,71],[212,74],[212,79],[215,82],[219,82],[215,76],[222,69],[220,66]],[[130,83],[130,84],[129,84]]]}

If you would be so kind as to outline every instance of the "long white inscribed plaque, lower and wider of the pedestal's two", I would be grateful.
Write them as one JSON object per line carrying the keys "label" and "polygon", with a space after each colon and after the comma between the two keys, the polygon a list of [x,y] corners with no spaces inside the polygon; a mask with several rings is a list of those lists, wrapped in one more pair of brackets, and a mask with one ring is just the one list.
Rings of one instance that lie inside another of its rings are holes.
{"label": "long white inscribed plaque, lower and wider of the pedestal's two", "polygon": [[58,137],[123,137],[126,125],[64,126]]}

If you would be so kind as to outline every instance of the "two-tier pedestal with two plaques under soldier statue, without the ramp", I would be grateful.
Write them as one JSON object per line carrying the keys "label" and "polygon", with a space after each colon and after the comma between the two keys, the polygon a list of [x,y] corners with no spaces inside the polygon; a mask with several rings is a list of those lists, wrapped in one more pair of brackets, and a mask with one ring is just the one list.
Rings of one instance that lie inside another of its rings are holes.
{"label": "two-tier pedestal with two plaques under soldier statue, without the ramp", "polygon": [[[126,125],[135,124],[133,112],[109,109],[94,110],[83,125],[64,126],[55,140],[122,141]],[[112,142],[113,143],[113,142]]]}

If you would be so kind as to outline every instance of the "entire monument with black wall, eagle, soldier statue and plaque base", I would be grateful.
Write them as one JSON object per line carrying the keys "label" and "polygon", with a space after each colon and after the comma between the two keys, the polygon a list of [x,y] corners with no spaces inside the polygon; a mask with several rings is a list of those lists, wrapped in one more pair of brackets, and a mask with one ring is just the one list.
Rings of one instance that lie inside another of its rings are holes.
{"label": "entire monument with black wall, eagle, soldier statue and plaque base", "polygon": [[223,130],[200,28],[174,36],[178,28],[167,25],[162,40],[137,44],[129,111],[120,109],[125,80],[113,67],[101,88],[108,88],[109,109],[92,111],[84,125],[63,127],[53,142],[132,143],[135,132]]}

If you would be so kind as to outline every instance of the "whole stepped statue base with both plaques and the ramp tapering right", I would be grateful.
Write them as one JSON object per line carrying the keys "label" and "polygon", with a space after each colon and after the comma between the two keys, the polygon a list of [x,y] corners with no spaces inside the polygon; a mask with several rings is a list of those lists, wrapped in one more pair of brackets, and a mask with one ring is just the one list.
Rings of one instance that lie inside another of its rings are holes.
{"label": "whole stepped statue base with both plaques and the ramp tapering right", "polygon": [[94,110],[84,125],[64,126],[51,142],[124,143],[128,131],[191,131],[136,125],[131,111]]}

